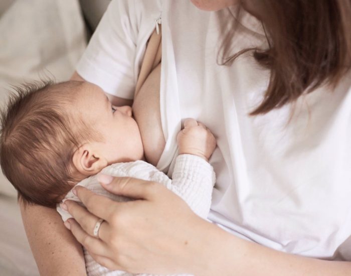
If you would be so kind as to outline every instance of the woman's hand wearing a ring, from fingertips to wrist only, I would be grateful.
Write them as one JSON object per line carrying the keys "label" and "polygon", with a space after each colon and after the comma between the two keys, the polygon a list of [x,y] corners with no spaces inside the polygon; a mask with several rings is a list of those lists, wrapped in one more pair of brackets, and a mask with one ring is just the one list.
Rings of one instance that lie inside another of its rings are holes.
{"label": "woman's hand wearing a ring, from fingertips to wrist only", "polygon": [[[87,209],[65,201],[62,207],[75,218],[69,219],[66,227],[97,262],[132,273],[197,273],[198,267],[206,269],[210,263],[204,255],[204,246],[209,244],[206,229],[213,225],[198,217],[183,199],[155,182],[105,175],[98,179],[112,181],[102,184],[107,191],[136,200],[115,202],[76,187]],[[93,228],[99,218],[104,222],[96,238]]]}

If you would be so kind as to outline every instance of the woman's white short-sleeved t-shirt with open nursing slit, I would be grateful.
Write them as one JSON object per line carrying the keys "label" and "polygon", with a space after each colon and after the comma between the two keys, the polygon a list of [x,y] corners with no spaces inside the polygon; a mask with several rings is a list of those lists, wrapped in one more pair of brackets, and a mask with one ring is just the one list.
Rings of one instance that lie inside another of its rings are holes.
{"label": "woman's white short-sleeved t-shirt with open nursing slit", "polygon": [[[248,113],[269,81],[249,54],[217,64],[219,15],[190,1],[112,1],[78,73],[107,93],[132,98],[146,40],[161,17],[160,111],[166,146],[157,165],[169,170],[175,137],[188,117],[217,137],[210,159],[217,182],[209,219],[242,238],[285,252],[351,260],[351,86],[322,87],[265,115]],[[233,52],[266,39],[246,14]],[[174,163],[174,162],[173,162]]]}

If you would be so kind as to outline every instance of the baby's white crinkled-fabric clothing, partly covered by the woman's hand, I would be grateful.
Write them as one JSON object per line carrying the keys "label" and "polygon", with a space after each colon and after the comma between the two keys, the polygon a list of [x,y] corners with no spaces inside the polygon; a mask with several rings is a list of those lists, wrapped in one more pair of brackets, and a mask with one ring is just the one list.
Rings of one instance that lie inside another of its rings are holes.
{"label": "baby's white crinkled-fabric clothing, partly covered by the woman's hand", "polygon": [[[164,173],[144,161],[116,163],[104,168],[101,173],[118,176],[134,177],[163,184],[167,189],[183,198],[192,210],[199,216],[207,218],[211,206],[211,195],[216,182],[212,166],[201,157],[194,155],[180,155],[175,162],[175,167],[170,180]],[[97,181],[96,175],[84,179],[77,186],[83,186],[97,194],[106,196],[115,201],[129,201],[129,198],[117,196],[107,192]],[[79,198],[70,191],[65,199],[80,202]],[[72,217],[60,205],[57,211],[64,221]],[[130,229],[131,231],[133,229]],[[134,275],[124,271],[111,271],[99,265],[84,248],[85,266],[88,276],[98,275]],[[148,275],[148,274],[138,274]],[[185,275],[185,274],[184,274]]]}

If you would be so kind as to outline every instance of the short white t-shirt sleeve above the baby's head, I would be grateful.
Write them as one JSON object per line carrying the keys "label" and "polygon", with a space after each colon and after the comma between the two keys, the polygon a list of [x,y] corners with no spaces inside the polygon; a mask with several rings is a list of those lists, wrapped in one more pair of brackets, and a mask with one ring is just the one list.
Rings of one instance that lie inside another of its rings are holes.
{"label": "short white t-shirt sleeve above the baby's head", "polygon": [[137,38],[134,0],[113,0],[103,15],[76,70],[106,93],[132,99]]}

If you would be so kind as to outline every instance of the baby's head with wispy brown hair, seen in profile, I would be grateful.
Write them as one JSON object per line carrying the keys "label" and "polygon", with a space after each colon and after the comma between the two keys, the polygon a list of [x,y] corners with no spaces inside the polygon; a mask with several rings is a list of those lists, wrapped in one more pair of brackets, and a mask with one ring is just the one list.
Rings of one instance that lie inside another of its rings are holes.
{"label": "baby's head with wispy brown hair, seen in profile", "polygon": [[22,85],[1,114],[2,170],[25,203],[55,208],[82,179],[143,158],[129,106],[92,83]]}

